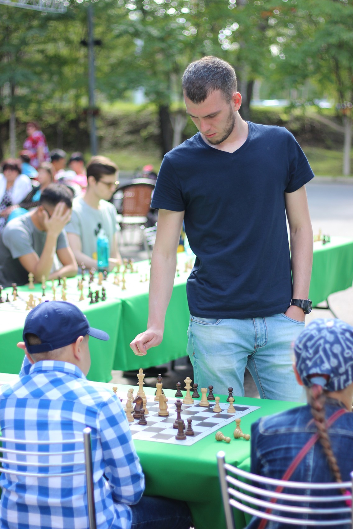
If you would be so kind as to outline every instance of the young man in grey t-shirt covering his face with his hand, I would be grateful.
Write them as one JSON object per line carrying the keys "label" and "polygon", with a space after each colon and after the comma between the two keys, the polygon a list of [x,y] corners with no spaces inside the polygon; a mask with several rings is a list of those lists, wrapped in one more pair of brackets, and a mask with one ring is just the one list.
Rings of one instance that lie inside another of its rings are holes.
{"label": "young man in grey t-shirt covering his face with his hand", "polygon": [[[64,230],[70,220],[72,193],[67,186],[50,184],[33,211],[14,218],[0,239],[0,285],[25,285],[32,272],[34,281],[42,277],[74,277],[77,264]],[[52,270],[57,255],[60,265]]]}

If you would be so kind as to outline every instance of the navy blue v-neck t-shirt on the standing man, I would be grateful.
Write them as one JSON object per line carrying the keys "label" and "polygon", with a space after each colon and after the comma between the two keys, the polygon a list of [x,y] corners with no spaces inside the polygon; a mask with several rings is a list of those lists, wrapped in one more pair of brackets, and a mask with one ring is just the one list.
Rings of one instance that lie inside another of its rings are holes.
{"label": "navy blue v-neck t-shirt on the standing man", "polygon": [[197,133],[168,152],[159,171],[152,207],[185,211],[196,255],[186,286],[194,316],[264,317],[291,302],[284,194],[314,175],[284,127],[248,125],[247,140],[233,153]]}

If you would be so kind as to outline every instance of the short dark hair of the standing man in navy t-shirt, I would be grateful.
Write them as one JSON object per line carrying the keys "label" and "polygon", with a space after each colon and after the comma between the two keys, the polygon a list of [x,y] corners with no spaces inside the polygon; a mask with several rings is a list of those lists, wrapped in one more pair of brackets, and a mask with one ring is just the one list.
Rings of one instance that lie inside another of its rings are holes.
{"label": "short dark hair of the standing man in navy t-shirt", "polygon": [[230,102],[237,92],[234,68],[218,57],[203,57],[191,62],[182,78],[183,92],[196,105],[202,103],[215,90],[221,90],[225,101]]}

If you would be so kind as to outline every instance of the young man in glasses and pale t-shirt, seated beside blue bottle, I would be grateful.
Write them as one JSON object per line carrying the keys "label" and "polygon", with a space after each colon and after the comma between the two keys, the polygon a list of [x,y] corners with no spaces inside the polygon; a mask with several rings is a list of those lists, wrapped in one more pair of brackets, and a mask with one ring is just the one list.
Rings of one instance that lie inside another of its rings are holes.
{"label": "young man in glasses and pale t-shirt, seated beside blue bottle", "polygon": [[97,234],[103,228],[109,241],[109,269],[121,262],[117,244],[116,209],[107,202],[117,186],[117,167],[109,158],[94,156],[87,165],[87,189],[73,200],[73,214],[66,226],[76,261],[97,268]]}

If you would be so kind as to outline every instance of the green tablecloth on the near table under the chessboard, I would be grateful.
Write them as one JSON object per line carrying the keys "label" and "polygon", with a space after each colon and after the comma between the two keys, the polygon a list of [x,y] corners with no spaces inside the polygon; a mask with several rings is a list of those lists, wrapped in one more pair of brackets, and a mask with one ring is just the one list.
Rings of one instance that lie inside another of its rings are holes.
{"label": "green tablecloth on the near table under the chessboard", "polygon": [[[0,373],[0,383],[15,378],[13,375]],[[128,388],[129,386],[119,385],[118,393],[121,392],[125,396]],[[153,394],[154,389],[144,387],[149,394]],[[174,396],[174,393],[175,391],[165,390],[167,396]],[[185,395],[185,391],[183,394]],[[225,402],[225,398],[222,396],[221,402]],[[244,433],[250,433],[251,424],[259,417],[285,411],[297,405],[279,400],[246,397],[237,397],[236,404],[261,406],[242,417],[241,428]],[[236,466],[246,464],[249,469],[250,442],[244,439],[235,440],[234,427],[235,423],[222,427],[224,435],[231,437],[229,444],[216,441],[214,434],[192,446],[134,441],[146,476],[146,494],[186,501],[193,515],[195,529],[225,529],[216,453],[224,450],[228,463]],[[237,512],[236,519],[239,527],[246,525],[242,513]]]}

